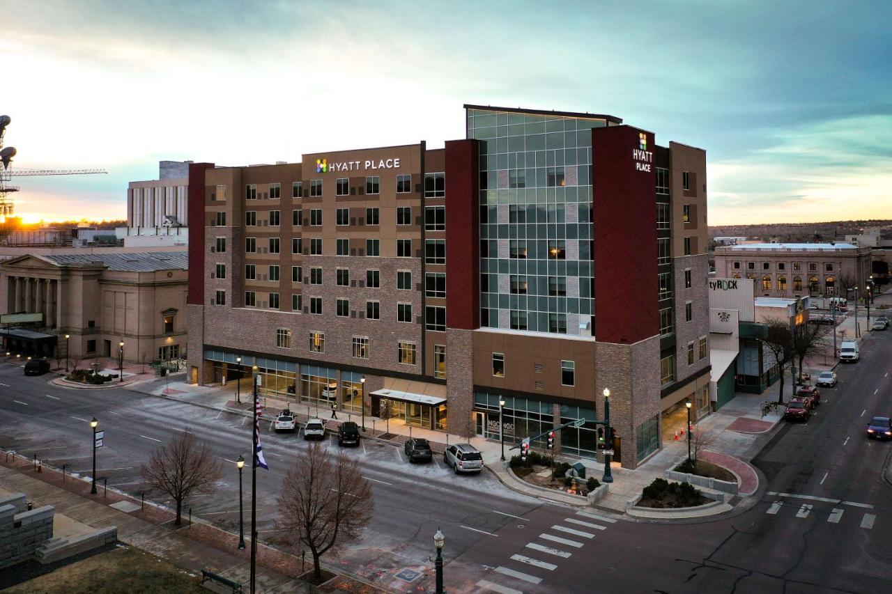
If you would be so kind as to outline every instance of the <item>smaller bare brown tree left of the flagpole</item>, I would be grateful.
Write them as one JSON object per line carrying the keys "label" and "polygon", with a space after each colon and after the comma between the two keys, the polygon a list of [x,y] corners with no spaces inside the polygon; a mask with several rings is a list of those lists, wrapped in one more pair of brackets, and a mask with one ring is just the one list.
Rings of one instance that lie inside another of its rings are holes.
{"label": "smaller bare brown tree left of the flagpole", "polygon": [[183,524],[183,501],[198,493],[210,493],[223,476],[219,459],[208,446],[195,441],[189,428],[153,450],[148,463],[140,468],[146,483],[177,502],[177,521]]}

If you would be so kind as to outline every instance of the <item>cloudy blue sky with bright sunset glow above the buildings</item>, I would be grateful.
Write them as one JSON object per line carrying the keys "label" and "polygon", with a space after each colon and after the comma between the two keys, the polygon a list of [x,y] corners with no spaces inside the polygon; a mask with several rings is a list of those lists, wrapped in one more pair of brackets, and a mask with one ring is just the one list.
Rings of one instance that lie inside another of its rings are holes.
{"label": "cloudy blue sky with bright sunset glow above the buildings", "polygon": [[26,219],[125,215],[164,159],[464,134],[463,103],[610,113],[707,151],[710,224],[892,218],[888,2],[0,0]]}

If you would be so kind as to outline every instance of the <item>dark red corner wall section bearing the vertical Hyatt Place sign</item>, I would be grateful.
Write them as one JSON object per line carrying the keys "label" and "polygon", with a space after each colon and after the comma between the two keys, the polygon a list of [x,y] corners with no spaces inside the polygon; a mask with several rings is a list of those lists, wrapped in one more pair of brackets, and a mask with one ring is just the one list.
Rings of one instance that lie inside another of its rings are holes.
{"label": "dark red corner wall section bearing the vertical Hyatt Place sign", "polygon": [[631,344],[659,333],[653,157],[650,132],[631,126],[591,131],[598,342]]}

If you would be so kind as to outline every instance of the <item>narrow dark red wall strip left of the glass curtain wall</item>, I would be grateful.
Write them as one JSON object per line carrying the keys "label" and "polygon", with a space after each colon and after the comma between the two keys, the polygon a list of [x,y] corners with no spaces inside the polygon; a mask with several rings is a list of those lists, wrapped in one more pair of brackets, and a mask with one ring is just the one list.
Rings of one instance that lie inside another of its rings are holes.
{"label": "narrow dark red wall strip left of the glass curtain wall", "polygon": [[446,142],[446,322],[480,327],[480,143]]}

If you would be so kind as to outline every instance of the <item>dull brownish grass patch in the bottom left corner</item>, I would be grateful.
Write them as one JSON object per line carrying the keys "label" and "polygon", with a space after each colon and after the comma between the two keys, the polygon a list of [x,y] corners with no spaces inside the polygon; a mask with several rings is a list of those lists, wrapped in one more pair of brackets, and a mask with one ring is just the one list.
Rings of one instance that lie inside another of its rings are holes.
{"label": "dull brownish grass patch in the bottom left corner", "polygon": [[8,594],[119,594],[207,592],[197,577],[140,549],[119,547],[65,565],[4,590]]}

